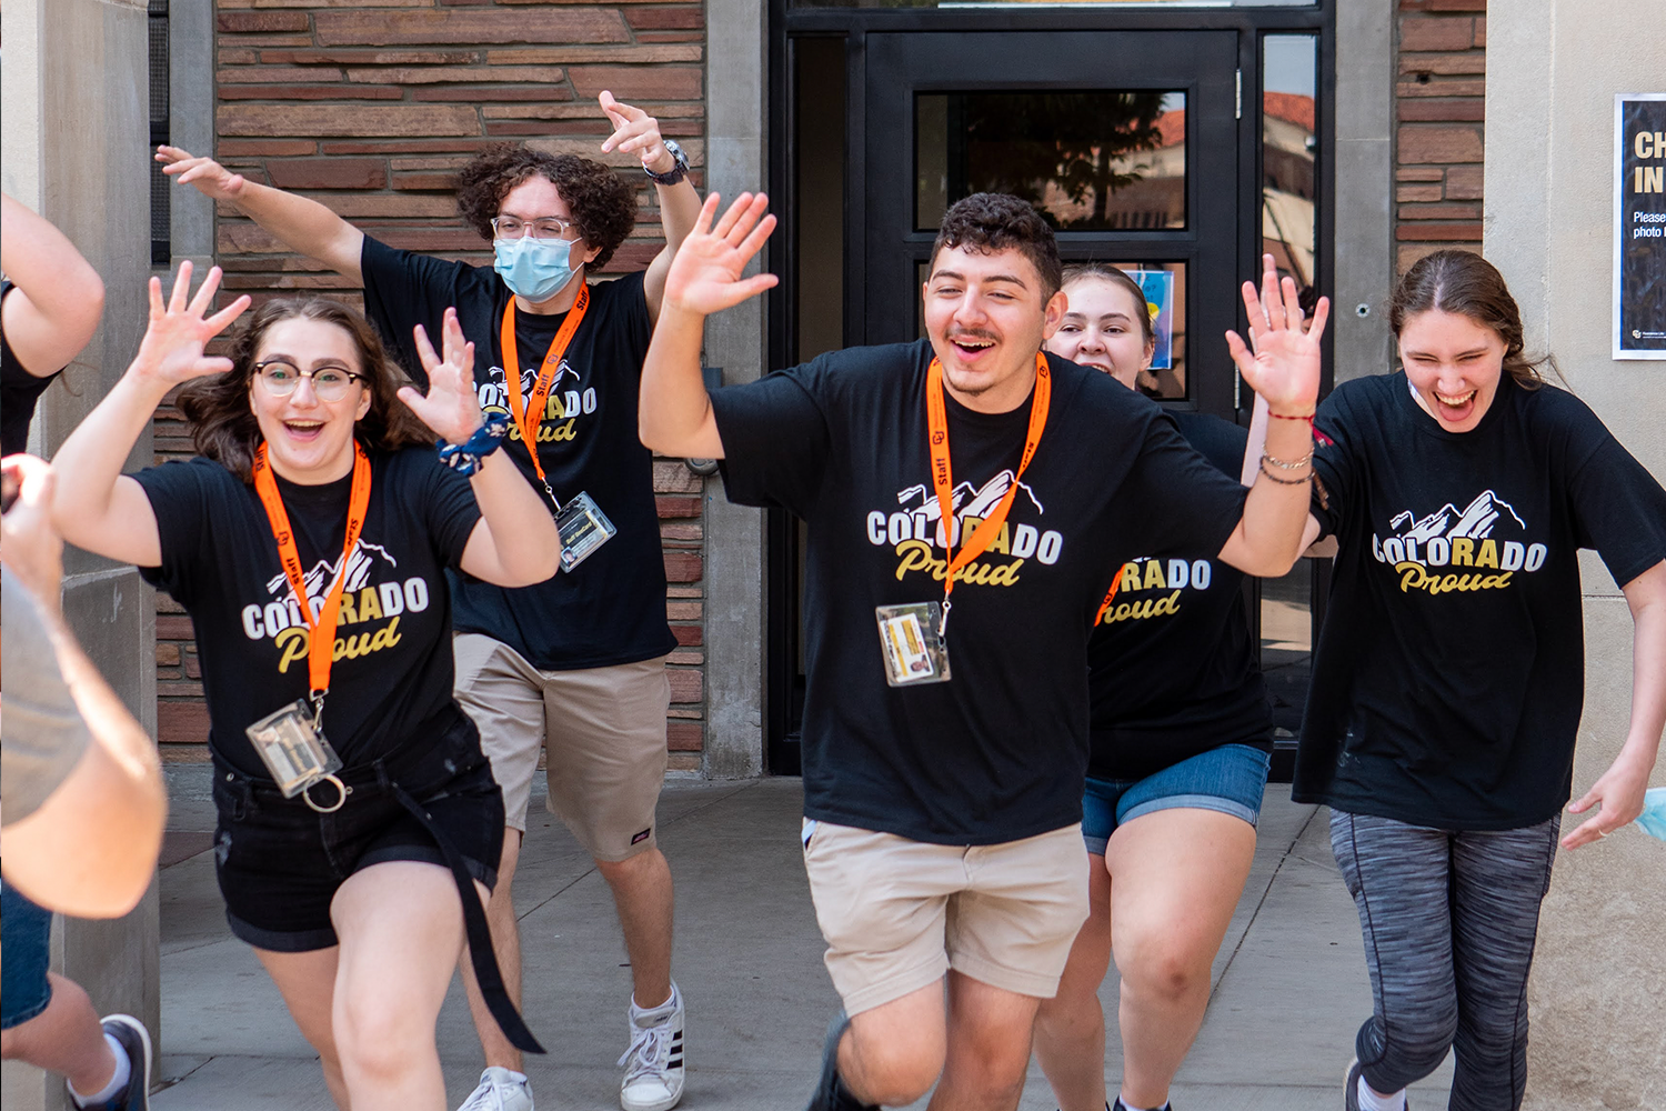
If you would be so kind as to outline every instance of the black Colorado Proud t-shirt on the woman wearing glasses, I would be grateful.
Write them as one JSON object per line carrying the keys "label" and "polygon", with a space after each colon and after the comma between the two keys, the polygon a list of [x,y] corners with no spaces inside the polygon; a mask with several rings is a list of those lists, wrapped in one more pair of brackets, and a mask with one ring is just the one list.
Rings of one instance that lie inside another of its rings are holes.
{"label": "black Colorado Proud t-shirt on the woman wearing glasses", "polygon": [[[347,766],[473,731],[451,700],[445,568],[480,520],[468,480],[431,448],[370,456],[370,508],[348,560],[323,731]],[[192,615],[208,696],[208,745],[270,778],[243,730],[307,696],[307,626],[255,488],[207,458],[133,475],[157,515],[162,566],[140,568]],[[308,593],[335,581],[352,476],[322,486],[278,478]]]}

